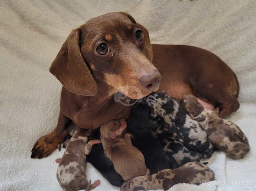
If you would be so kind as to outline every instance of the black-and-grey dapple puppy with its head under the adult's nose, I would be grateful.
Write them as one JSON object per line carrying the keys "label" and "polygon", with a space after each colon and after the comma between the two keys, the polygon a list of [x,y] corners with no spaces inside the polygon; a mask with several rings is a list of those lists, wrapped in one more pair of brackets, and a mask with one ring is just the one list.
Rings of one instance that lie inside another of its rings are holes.
{"label": "black-and-grey dapple puppy with its head under the adult's nose", "polygon": [[207,138],[206,131],[199,122],[186,114],[179,100],[169,97],[166,92],[162,91],[151,93],[146,102],[151,108],[152,119],[160,116],[168,124],[172,133],[172,137],[168,137],[168,131],[167,136],[161,133],[162,139],[166,142],[164,150],[168,150],[172,155],[175,152],[176,156],[173,156],[177,160],[185,155],[191,159],[209,158],[212,155],[213,145]]}

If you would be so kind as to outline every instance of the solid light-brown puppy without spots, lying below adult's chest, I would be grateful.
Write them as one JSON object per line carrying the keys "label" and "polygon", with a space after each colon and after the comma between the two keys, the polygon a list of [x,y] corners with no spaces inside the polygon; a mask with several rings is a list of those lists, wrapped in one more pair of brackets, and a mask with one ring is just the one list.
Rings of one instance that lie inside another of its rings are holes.
{"label": "solid light-brown puppy without spots, lying below adult's chest", "polygon": [[145,175],[147,170],[144,156],[132,145],[130,134],[121,137],[125,129],[124,119],[112,120],[100,128],[104,152],[124,181]]}

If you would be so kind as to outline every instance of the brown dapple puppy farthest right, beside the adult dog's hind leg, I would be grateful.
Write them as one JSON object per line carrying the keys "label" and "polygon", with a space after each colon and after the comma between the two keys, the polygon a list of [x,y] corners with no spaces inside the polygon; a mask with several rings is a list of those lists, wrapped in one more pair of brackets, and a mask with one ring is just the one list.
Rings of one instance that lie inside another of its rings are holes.
{"label": "brown dapple puppy farthest right, beside the adult dog's hind leg", "polygon": [[214,146],[228,157],[239,159],[249,152],[248,139],[236,124],[218,117],[214,111],[204,109],[194,95],[184,95],[181,103],[192,119],[205,128]]}

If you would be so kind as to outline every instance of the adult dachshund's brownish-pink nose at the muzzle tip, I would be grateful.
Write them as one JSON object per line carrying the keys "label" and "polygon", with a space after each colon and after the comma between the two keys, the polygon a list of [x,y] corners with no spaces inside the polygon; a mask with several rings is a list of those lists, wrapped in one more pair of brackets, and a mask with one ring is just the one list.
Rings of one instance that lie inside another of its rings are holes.
{"label": "adult dachshund's brownish-pink nose at the muzzle tip", "polygon": [[161,80],[161,74],[157,69],[150,74],[144,74],[139,78],[139,84],[142,87],[146,87],[148,91],[155,91],[159,88]]}

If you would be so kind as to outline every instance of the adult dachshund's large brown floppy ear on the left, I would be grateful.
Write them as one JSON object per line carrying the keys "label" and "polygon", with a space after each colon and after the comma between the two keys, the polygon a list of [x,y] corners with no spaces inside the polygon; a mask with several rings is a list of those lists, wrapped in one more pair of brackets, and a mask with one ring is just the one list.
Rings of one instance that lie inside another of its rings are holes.
{"label": "adult dachshund's large brown floppy ear on the left", "polygon": [[69,91],[86,96],[97,93],[97,85],[80,48],[80,29],[73,30],[51,64],[50,72]]}

